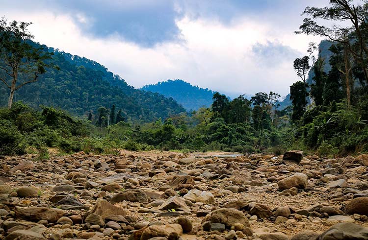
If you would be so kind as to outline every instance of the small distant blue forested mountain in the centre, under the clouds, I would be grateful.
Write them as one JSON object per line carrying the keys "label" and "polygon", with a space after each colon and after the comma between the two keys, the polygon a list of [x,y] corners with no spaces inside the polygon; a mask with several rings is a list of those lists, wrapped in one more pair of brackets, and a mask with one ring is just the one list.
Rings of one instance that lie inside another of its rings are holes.
{"label": "small distant blue forested mountain in the centre, under the clouds", "polygon": [[212,96],[215,93],[207,88],[192,86],[190,83],[180,79],[158,82],[155,85],[146,85],[141,89],[172,97],[188,111],[198,110],[200,107],[210,107]]}

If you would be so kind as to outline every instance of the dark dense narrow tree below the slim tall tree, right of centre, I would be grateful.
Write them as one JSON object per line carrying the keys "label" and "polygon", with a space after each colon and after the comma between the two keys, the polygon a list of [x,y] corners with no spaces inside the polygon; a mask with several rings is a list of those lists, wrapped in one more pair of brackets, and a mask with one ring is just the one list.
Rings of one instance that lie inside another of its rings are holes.
{"label": "dark dense narrow tree below the slim tall tree, right of centre", "polygon": [[303,116],[307,106],[307,96],[308,93],[304,82],[297,81],[290,86],[290,100],[292,102],[291,119],[293,121],[300,120]]}

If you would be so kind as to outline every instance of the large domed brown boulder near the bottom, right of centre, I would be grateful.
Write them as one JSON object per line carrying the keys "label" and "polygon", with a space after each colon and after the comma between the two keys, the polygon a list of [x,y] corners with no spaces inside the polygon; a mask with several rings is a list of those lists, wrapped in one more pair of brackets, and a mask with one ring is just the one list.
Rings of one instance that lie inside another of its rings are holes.
{"label": "large domed brown boulder near the bottom, right of centre", "polygon": [[210,221],[211,223],[222,223],[225,224],[227,228],[231,228],[235,223],[243,224],[248,227],[248,218],[244,216],[243,212],[240,212],[233,208],[220,208],[209,215],[205,216],[202,223]]}

